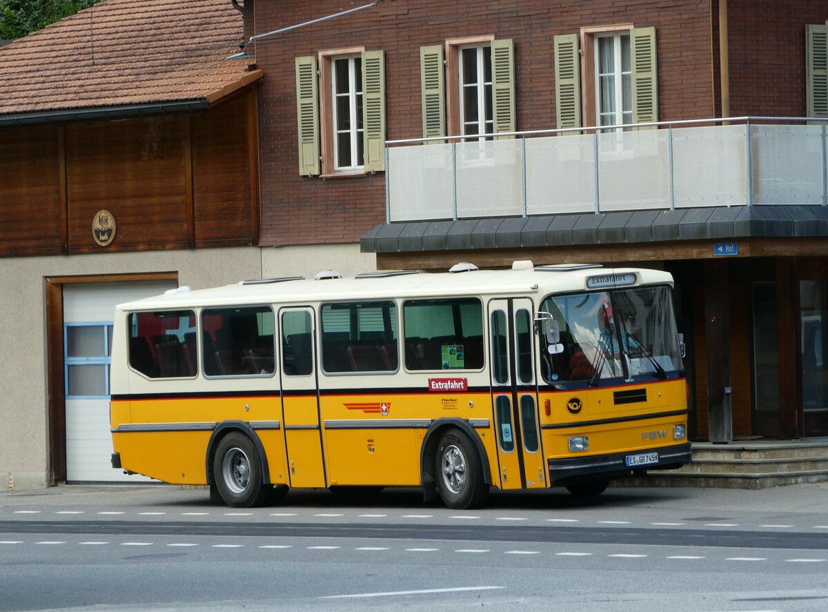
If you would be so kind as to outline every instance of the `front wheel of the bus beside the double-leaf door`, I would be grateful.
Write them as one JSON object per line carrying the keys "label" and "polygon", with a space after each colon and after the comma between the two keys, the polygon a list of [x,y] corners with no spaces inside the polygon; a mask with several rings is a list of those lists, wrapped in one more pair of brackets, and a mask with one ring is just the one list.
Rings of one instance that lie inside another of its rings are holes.
{"label": "front wheel of the bus beside the double-leaf door", "polygon": [[435,455],[437,494],[448,508],[463,510],[483,504],[488,487],[480,458],[469,438],[456,429],[440,437]]}

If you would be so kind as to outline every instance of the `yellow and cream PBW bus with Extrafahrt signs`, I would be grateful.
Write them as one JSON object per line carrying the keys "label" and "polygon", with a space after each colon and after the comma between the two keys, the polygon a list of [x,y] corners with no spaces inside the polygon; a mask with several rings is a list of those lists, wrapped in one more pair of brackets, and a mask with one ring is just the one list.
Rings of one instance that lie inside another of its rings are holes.
{"label": "yellow and cream PBW bus with Extrafahrt signs", "polygon": [[599,494],[690,460],[672,277],[595,265],[270,278],[117,307],[113,467],[209,484]]}

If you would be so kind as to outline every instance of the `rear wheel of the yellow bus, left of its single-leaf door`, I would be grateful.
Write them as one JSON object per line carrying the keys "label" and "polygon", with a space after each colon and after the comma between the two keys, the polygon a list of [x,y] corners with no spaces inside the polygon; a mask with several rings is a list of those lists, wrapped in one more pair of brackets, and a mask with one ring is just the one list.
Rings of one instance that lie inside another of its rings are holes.
{"label": "rear wheel of the yellow bus, left of its single-leaf door", "polygon": [[256,446],[238,431],[219,441],[213,459],[213,478],[221,499],[231,508],[259,505],[272,489],[271,484],[262,484],[262,462]]}

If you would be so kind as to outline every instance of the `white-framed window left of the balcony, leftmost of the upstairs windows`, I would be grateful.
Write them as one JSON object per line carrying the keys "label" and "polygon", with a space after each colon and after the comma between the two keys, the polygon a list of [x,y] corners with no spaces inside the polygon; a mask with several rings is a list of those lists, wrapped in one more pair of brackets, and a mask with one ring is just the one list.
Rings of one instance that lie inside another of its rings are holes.
{"label": "white-framed window left of the balcony, leftmost of the upstairs windows", "polygon": [[365,153],[362,57],[337,57],[331,63],[334,171],[362,170]]}

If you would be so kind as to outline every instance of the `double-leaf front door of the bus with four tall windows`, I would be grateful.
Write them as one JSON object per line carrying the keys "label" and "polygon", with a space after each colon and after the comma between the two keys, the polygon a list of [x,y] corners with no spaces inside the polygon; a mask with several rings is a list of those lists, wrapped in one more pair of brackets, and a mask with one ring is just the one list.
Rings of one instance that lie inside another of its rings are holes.
{"label": "double-leaf front door of the bus with four tall windows", "polygon": [[546,487],[538,428],[532,301],[489,302],[489,351],[503,489]]}

